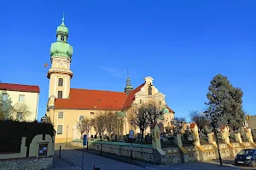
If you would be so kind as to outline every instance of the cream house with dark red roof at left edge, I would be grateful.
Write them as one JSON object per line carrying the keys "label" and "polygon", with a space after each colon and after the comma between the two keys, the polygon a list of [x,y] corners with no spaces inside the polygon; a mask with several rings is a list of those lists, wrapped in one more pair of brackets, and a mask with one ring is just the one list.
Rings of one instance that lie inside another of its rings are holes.
{"label": "cream house with dark red roof at left edge", "polygon": [[0,83],[0,105],[3,108],[10,99],[14,110],[11,111],[11,117],[7,118],[32,122],[38,119],[39,93],[38,86]]}

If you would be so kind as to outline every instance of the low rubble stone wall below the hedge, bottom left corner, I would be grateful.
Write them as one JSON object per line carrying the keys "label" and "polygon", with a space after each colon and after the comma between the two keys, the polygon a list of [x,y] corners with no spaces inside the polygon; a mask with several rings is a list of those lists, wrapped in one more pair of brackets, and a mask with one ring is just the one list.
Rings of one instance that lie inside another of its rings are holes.
{"label": "low rubble stone wall below the hedge, bottom left corner", "polygon": [[23,170],[23,169],[49,169],[53,166],[53,157],[26,157],[0,161],[0,170]]}

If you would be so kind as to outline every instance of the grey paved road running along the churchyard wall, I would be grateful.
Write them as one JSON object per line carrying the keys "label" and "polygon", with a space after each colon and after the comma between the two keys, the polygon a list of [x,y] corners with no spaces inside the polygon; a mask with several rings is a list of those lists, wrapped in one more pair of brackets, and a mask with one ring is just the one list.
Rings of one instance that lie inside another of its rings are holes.
{"label": "grey paved road running along the churchyard wall", "polygon": [[[59,147],[55,147],[55,163],[53,170],[70,169],[70,170],[81,170],[83,152],[80,150],[74,150],[66,147],[65,144],[61,144],[61,158],[59,156]],[[101,170],[239,170],[239,169],[256,169],[252,167],[235,167],[232,165],[232,161],[224,162],[223,167],[218,166],[218,161],[195,161],[176,165],[158,166],[150,163],[142,162],[137,165],[125,163],[123,161],[115,161],[103,156],[97,156],[84,152],[84,164],[83,168],[92,170],[93,167],[100,167]]]}

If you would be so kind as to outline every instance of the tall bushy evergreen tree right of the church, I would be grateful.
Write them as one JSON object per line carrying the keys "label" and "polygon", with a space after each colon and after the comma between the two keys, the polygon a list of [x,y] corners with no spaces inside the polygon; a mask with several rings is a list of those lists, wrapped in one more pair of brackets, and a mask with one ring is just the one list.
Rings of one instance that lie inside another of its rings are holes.
{"label": "tall bushy evergreen tree right of the church", "polygon": [[220,74],[213,77],[208,88],[207,113],[212,126],[228,125],[237,130],[244,122],[245,113],[242,110],[241,88],[234,88],[227,77]]}

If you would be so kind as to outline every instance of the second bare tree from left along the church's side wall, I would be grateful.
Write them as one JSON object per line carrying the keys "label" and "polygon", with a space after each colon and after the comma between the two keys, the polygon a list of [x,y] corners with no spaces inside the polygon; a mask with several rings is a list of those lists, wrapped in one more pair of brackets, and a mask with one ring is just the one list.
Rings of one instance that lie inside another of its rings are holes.
{"label": "second bare tree from left along the church's side wall", "polygon": [[96,130],[96,133],[99,133],[99,135],[102,136],[106,129],[106,116],[104,115],[104,113],[96,113],[96,117],[92,119],[91,122],[92,126]]}

